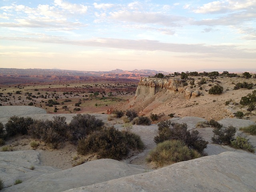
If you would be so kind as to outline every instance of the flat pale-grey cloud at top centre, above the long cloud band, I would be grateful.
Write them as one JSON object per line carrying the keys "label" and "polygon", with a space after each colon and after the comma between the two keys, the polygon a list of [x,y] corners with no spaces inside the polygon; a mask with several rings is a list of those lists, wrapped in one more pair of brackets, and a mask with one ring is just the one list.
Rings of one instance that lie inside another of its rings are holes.
{"label": "flat pale-grey cloud at top centre, above the long cloud band", "polygon": [[136,23],[152,23],[164,26],[181,26],[180,22],[185,22],[186,18],[175,15],[167,15],[161,13],[142,13],[142,12],[128,12],[126,10],[111,12],[110,18],[125,22]]}

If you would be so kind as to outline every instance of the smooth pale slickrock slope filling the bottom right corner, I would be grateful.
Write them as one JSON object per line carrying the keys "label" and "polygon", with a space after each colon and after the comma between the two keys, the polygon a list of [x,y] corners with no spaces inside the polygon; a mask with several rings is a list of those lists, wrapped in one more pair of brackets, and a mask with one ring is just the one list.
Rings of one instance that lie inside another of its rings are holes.
{"label": "smooth pale slickrock slope filling the bottom right corner", "polygon": [[255,192],[256,156],[224,152],[66,192]]}

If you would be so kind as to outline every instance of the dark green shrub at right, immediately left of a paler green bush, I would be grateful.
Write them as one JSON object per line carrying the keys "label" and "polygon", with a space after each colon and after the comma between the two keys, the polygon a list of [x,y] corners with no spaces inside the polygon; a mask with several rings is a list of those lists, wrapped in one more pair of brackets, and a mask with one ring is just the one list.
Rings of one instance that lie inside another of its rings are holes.
{"label": "dark green shrub at right, immediately left of a paler green bush", "polygon": [[214,128],[212,131],[214,132],[214,136],[212,137],[212,141],[216,144],[224,144],[230,145],[231,141],[235,138],[236,128],[233,126],[229,126],[228,128]]}

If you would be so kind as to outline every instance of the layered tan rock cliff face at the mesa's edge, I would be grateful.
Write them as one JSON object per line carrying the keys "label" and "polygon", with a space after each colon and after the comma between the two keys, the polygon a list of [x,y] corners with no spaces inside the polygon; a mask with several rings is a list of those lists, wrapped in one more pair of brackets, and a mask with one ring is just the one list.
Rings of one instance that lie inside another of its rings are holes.
{"label": "layered tan rock cliff face at the mesa's edge", "polygon": [[154,95],[161,89],[166,88],[172,91],[183,92],[183,82],[181,79],[160,79],[160,78],[140,78],[136,90],[136,96],[139,94]]}

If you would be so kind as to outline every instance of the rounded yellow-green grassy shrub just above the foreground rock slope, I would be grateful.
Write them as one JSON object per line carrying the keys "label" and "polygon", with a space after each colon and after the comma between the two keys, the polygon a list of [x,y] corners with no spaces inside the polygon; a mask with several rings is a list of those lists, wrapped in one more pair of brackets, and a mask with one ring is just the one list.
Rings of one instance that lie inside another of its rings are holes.
{"label": "rounded yellow-green grassy shrub just above the foreground rock slope", "polygon": [[188,148],[181,140],[167,140],[157,144],[156,148],[150,151],[146,161],[163,166],[199,157],[201,155],[198,152]]}

